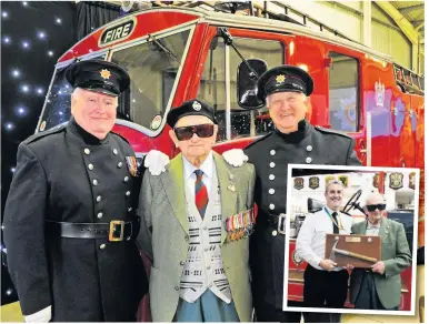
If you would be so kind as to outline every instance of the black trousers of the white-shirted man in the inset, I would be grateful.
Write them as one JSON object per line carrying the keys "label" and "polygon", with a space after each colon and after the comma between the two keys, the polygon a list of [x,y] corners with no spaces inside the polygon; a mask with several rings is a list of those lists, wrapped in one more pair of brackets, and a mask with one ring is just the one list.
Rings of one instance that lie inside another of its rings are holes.
{"label": "black trousers of the white-shirted man in the inset", "polygon": [[[310,264],[303,273],[303,306],[342,308],[347,298],[349,273],[347,270],[323,271]],[[340,314],[305,313],[306,323],[339,322]]]}

